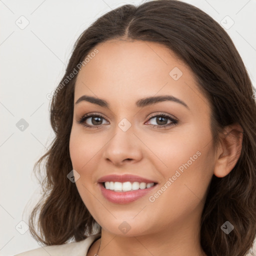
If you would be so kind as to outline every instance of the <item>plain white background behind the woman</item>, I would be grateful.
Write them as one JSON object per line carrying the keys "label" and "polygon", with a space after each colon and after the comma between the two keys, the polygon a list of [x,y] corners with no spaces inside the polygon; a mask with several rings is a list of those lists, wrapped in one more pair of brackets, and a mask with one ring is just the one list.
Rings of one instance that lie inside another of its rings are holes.
{"label": "plain white background behind the woman", "polygon": [[[255,86],[256,1],[184,1],[219,23],[226,15],[234,21],[226,31]],[[20,221],[28,223],[40,192],[32,168],[53,135],[46,95],[60,82],[80,33],[100,15],[125,3],[140,1],[0,0],[0,255],[40,246],[29,231],[20,234],[15,226],[24,230]],[[24,25],[26,19],[29,24],[24,29],[15,23]],[[21,118],[28,123],[23,131],[16,127]]]}

